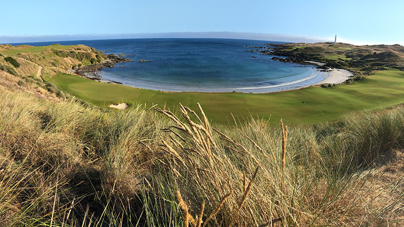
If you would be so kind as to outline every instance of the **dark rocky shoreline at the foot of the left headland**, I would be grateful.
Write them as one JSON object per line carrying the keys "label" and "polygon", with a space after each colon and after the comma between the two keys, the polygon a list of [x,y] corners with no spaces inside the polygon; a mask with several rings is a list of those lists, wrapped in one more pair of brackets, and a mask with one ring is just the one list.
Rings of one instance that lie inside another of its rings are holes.
{"label": "dark rocky shoreline at the foot of the left headland", "polygon": [[118,81],[107,80],[102,78],[97,73],[97,71],[102,68],[113,68],[115,67],[115,63],[132,62],[132,59],[121,58],[120,56],[113,53],[106,54],[106,57],[108,58],[108,60],[106,61],[100,62],[98,64],[82,66],[78,69],[72,69],[71,72],[90,80],[101,81],[106,83],[122,84],[121,82]]}

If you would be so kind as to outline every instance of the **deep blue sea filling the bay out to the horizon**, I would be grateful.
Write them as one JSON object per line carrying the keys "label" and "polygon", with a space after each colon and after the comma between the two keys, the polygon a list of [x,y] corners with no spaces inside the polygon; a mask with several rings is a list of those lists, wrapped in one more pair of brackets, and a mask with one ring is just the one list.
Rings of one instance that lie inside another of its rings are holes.
{"label": "deep blue sea filling the bay out to the horizon", "polygon": [[[159,38],[24,43],[85,44],[105,53],[127,54],[133,62],[115,64],[98,74],[107,80],[154,90],[273,92],[324,80],[313,66],[273,61],[246,46],[271,41],[243,39]],[[280,42],[272,42],[280,43]],[[14,44],[15,45],[15,44]],[[255,56],[256,58],[252,58]],[[150,62],[139,63],[139,60]]]}

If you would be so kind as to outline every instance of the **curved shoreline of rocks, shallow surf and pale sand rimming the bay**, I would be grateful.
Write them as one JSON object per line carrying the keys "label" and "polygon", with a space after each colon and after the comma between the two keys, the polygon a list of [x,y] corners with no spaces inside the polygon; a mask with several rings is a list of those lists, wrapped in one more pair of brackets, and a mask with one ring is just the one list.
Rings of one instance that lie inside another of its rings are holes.
{"label": "curved shoreline of rocks, shallow surf and pale sand rimming the bay", "polygon": [[[98,82],[126,85],[140,89],[149,89],[163,92],[204,92],[204,93],[231,93],[231,92],[274,93],[288,90],[298,90],[321,84],[340,84],[354,76],[351,72],[344,69],[329,69],[328,67],[324,66],[325,63],[315,61],[293,62],[276,58],[276,60],[284,63],[290,62],[301,66],[311,65],[313,66],[313,69],[316,68],[316,71],[314,73],[309,70],[308,75],[301,74],[301,76],[303,76],[302,78],[290,82],[271,84],[271,81],[268,81],[269,83],[266,86],[261,85],[255,87],[254,85],[251,85],[250,87],[212,88],[209,85],[205,85],[205,87],[203,86],[195,87],[192,85],[168,84],[168,83],[165,84],[164,82],[158,82],[158,81],[146,81],[136,79],[130,80],[124,77],[119,78],[119,75],[113,73],[111,73],[110,76],[108,74],[101,75],[102,72],[100,71],[103,68],[113,68],[115,67],[114,63],[132,61],[132,59],[121,58],[121,56],[118,56],[113,53],[108,54],[106,56],[108,57],[108,60],[104,62],[83,66],[76,70],[71,70],[70,72],[79,75],[81,77]],[[274,60],[274,58],[272,60]]]}

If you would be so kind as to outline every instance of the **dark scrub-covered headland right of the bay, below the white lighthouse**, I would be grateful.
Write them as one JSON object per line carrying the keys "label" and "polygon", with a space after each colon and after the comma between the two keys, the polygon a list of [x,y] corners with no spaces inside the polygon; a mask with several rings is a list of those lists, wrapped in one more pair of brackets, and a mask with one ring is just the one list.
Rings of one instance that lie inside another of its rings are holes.
{"label": "dark scrub-covered headland right of the bay, below the white lighthouse", "polygon": [[355,75],[371,75],[378,70],[404,70],[404,47],[401,45],[356,46],[347,43],[283,43],[267,44],[262,54],[286,56],[284,62],[308,64],[316,61],[319,68],[346,69]]}

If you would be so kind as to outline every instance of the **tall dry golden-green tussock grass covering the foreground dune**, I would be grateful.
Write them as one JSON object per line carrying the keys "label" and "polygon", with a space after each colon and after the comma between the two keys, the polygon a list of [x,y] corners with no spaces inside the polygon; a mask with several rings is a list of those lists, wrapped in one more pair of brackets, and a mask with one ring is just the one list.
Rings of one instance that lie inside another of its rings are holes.
{"label": "tall dry golden-green tussock grass covering the foreground dune", "polygon": [[0,94],[0,226],[399,226],[404,108],[314,126]]}

